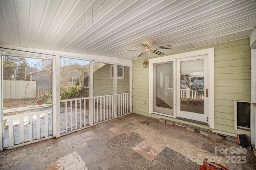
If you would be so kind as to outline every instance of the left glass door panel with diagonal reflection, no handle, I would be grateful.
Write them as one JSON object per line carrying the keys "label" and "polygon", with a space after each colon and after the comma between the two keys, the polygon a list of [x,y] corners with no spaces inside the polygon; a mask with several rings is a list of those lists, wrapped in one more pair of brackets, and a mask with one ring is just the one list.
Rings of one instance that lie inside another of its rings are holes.
{"label": "left glass door panel with diagonal reflection, no handle", "polygon": [[173,62],[153,64],[153,111],[173,115]]}

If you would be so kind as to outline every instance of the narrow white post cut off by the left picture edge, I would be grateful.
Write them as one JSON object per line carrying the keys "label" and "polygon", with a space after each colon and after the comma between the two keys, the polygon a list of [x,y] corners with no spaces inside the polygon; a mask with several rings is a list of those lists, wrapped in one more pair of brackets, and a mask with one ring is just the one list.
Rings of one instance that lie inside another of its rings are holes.
{"label": "narrow white post cut off by the left picture edge", "polygon": [[1,109],[1,116],[0,116],[0,150],[3,150],[3,130],[4,130],[4,125],[3,125],[3,84],[2,84],[2,53],[0,53],[0,82],[1,82],[1,96],[0,96],[0,109]]}

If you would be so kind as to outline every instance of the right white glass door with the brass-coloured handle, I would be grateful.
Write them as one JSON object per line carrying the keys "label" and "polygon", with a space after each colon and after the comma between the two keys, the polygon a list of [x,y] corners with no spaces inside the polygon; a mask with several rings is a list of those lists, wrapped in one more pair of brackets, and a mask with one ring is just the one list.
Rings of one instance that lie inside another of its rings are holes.
{"label": "right white glass door with the brass-coloured handle", "polygon": [[208,122],[208,55],[176,63],[177,117]]}

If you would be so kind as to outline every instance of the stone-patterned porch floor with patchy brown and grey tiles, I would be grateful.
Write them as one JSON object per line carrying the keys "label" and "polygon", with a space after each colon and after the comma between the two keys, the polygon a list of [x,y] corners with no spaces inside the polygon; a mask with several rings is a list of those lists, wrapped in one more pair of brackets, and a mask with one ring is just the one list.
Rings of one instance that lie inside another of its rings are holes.
{"label": "stone-patterned porch floor with patchy brown and grey tiles", "polygon": [[0,169],[199,170],[205,157],[233,170],[256,169],[254,152],[237,143],[214,143],[199,131],[135,113],[57,139],[4,150]]}

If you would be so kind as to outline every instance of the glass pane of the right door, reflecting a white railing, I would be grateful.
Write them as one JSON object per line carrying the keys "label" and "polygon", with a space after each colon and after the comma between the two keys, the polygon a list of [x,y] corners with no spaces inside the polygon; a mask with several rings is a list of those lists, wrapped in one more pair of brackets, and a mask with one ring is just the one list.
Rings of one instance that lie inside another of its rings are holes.
{"label": "glass pane of the right door, reflecting a white railing", "polygon": [[180,110],[204,114],[204,59],[180,62]]}

